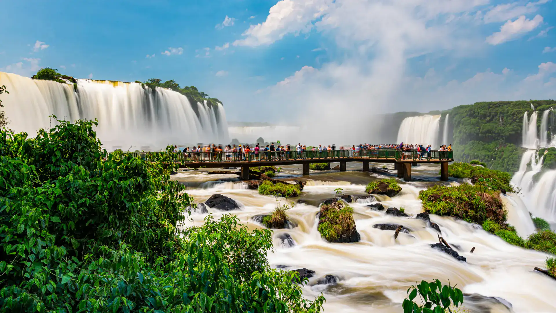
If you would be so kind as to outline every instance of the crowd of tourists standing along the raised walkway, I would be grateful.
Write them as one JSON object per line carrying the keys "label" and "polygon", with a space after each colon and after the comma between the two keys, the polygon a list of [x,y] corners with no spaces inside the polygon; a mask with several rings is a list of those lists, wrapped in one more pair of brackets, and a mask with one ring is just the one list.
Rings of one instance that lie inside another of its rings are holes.
{"label": "crowd of tourists standing along the raised walkway", "polygon": [[[288,145],[280,145],[280,144],[239,144],[239,145],[197,145],[193,146],[193,148],[186,147],[183,150],[174,147],[175,152],[182,152],[187,158],[192,160],[199,160],[199,159],[224,159],[224,160],[245,160],[249,158],[249,155],[255,156],[257,158],[271,158],[271,159],[281,159],[284,156],[287,158],[291,157],[292,151],[295,151],[299,156],[306,157],[306,153],[304,151],[315,151],[316,154],[314,156],[323,156],[323,152],[326,152],[326,156],[332,156],[335,154],[329,153],[329,151],[335,150],[353,150],[353,153],[349,153],[349,155],[363,155],[363,153],[357,153],[355,151],[365,151],[365,150],[380,150],[380,149],[388,149],[388,150],[398,150],[404,151],[403,158],[413,158],[413,151],[417,151],[418,158],[422,159],[425,157],[430,158],[430,154],[432,151],[431,145],[427,145],[426,147],[422,144],[378,144],[378,145],[370,145],[370,144],[359,144],[359,145],[352,145],[350,146],[340,146],[340,148],[336,149],[336,145],[319,145],[319,146],[306,146],[301,145],[298,143],[294,148],[292,148],[289,144]],[[451,151],[451,144],[448,146],[441,145],[438,149],[439,151]],[[342,156],[345,153],[342,153]],[[313,154],[311,153],[311,156]],[[366,156],[367,154],[365,154]]]}

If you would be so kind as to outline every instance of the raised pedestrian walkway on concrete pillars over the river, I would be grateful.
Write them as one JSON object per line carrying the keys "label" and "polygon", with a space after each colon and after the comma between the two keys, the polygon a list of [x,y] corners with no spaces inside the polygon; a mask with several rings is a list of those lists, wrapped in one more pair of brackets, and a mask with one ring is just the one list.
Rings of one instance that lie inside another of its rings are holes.
{"label": "raised pedestrian walkway on concrete pillars over the river", "polygon": [[416,150],[400,151],[394,149],[378,150],[330,150],[330,151],[259,151],[259,152],[133,152],[127,153],[150,161],[161,160],[171,155],[172,160],[180,162],[180,168],[225,168],[240,167],[241,178],[249,179],[250,167],[280,166],[302,164],[303,174],[309,175],[311,163],[340,163],[340,171],[346,170],[347,162],[363,163],[363,170],[369,171],[369,163],[394,163],[398,177],[411,180],[411,165],[420,163],[439,163],[440,179],[448,180],[448,164],[454,161],[454,151]]}

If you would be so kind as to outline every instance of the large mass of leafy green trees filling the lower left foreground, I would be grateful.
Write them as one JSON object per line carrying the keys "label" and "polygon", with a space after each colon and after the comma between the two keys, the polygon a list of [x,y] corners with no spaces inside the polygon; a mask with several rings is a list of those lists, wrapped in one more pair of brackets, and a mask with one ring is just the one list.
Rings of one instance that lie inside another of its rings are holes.
{"label": "large mass of leafy green trees filling the lower left foreground", "polygon": [[[7,312],[319,312],[267,262],[269,229],[225,215],[181,231],[170,168],[101,150],[94,121],[0,130],[0,307]],[[105,156],[107,159],[105,160]]]}

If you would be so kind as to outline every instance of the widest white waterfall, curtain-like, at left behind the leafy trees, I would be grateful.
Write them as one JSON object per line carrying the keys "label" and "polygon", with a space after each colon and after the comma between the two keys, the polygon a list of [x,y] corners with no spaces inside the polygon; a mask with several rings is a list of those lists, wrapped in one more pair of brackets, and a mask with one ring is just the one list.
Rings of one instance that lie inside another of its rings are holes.
{"label": "widest white waterfall, curtain-like, at left behind the leafy trees", "polygon": [[221,104],[190,103],[179,92],[135,82],[79,79],[71,84],[33,80],[0,72],[9,94],[2,104],[14,131],[33,135],[58,119],[98,119],[97,134],[107,150],[157,150],[168,144],[227,142]]}

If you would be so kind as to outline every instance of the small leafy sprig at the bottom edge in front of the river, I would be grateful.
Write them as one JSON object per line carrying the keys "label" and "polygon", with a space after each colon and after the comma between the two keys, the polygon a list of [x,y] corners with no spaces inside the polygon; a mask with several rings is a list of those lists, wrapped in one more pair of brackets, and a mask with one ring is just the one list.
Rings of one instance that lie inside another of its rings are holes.
{"label": "small leafy sprig at the bottom edge in front of the river", "polygon": [[[414,299],[419,293],[419,301]],[[426,282],[408,288],[407,298],[401,306],[404,313],[444,313],[452,312],[451,308],[458,308],[463,304],[463,292],[450,285],[442,285],[439,280]]]}

